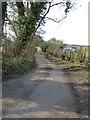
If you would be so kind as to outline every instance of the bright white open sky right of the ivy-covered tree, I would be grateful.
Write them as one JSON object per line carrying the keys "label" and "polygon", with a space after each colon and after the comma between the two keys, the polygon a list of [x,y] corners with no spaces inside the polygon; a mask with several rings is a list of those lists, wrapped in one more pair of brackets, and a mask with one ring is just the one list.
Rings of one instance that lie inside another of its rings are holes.
{"label": "bright white open sky right of the ivy-covered tree", "polygon": [[[46,34],[43,35],[44,40],[56,38],[63,40],[67,44],[88,45],[88,1],[79,0],[81,7],[71,11],[68,17],[60,23],[54,23],[48,20],[44,30]],[[57,14],[57,10],[53,9],[52,13]],[[60,11],[59,11],[60,13]],[[49,13],[50,15],[51,13]],[[58,14],[59,15],[59,14]],[[58,28],[59,26],[59,28]]]}

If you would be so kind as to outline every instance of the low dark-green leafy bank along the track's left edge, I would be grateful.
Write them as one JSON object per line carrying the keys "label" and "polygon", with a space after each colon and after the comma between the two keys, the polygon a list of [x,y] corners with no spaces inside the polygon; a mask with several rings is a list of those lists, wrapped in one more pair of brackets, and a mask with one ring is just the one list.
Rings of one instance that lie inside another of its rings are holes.
{"label": "low dark-green leafy bank along the track's left edge", "polygon": [[29,70],[34,65],[34,59],[27,60],[27,59],[17,59],[17,58],[11,58],[7,59],[4,58],[2,60],[2,75],[3,80],[25,73],[27,70]]}

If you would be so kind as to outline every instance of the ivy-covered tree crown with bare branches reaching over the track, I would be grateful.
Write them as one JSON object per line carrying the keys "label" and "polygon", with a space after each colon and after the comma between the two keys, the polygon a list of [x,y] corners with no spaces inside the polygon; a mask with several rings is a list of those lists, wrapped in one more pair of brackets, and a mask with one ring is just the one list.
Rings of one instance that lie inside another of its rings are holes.
{"label": "ivy-covered tree crown with bare branches reaching over the track", "polygon": [[[59,20],[47,17],[51,8],[58,5],[59,7],[63,6],[64,16]],[[74,0],[58,0],[58,2],[53,0],[49,2],[2,2],[3,25],[7,21],[11,26],[15,33],[18,49],[22,51],[22,49],[26,48],[28,41],[33,40],[33,36],[45,24],[46,19],[59,23],[67,17],[69,10],[74,5]]]}

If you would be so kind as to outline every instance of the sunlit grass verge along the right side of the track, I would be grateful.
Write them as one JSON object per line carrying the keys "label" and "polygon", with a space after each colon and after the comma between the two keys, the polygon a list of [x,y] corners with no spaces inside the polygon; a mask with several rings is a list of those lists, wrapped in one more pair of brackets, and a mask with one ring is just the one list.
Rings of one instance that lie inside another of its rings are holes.
{"label": "sunlit grass verge along the right side of the track", "polygon": [[55,62],[57,65],[60,65],[60,67],[66,72],[78,74],[85,80],[86,83],[90,83],[89,67],[79,63],[71,63],[70,61],[60,60],[60,58],[56,58],[48,54],[46,54],[46,57]]}

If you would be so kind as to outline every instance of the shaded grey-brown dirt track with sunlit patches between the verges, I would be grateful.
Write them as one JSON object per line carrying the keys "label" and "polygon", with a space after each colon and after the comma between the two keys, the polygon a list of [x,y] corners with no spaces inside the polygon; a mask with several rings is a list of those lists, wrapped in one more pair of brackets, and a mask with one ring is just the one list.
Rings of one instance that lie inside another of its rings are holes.
{"label": "shaded grey-brown dirt track with sunlit patches between the verges", "polygon": [[43,55],[36,53],[35,58],[37,68],[3,83],[3,118],[87,117],[78,114],[70,76]]}

